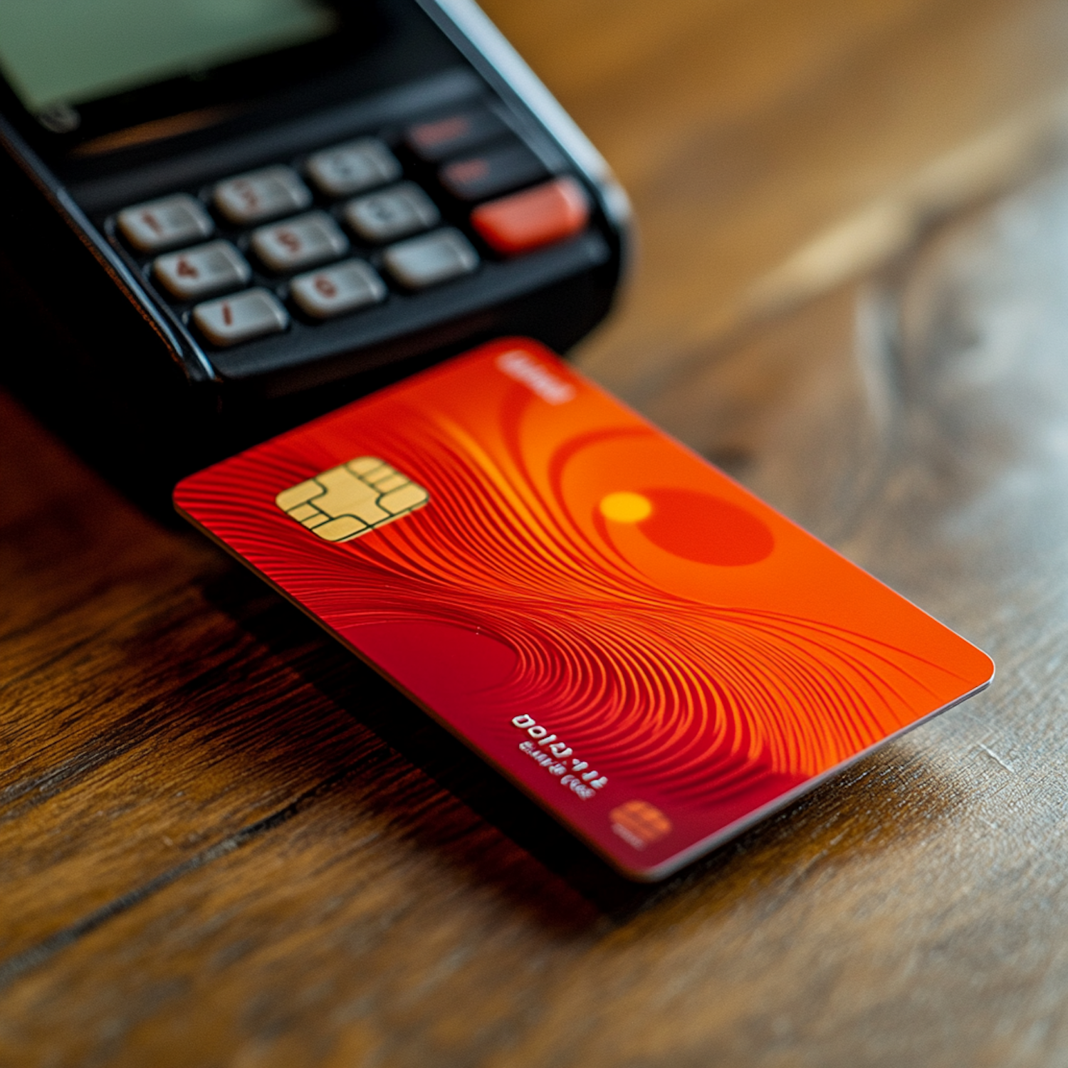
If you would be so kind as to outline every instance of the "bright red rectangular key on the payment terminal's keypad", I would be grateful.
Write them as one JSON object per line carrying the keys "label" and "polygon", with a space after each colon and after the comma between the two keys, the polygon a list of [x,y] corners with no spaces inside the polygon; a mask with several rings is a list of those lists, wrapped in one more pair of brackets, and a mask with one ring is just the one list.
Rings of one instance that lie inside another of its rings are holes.
{"label": "bright red rectangular key on the payment terminal's keypad", "polygon": [[506,255],[577,234],[590,219],[590,198],[575,178],[555,178],[476,207],[471,225]]}

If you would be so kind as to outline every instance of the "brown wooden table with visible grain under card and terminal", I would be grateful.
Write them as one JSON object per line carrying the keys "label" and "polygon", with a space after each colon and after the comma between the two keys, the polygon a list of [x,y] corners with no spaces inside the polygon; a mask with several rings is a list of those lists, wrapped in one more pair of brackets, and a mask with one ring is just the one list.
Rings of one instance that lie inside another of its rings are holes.
{"label": "brown wooden table with visible grain under card and terminal", "polygon": [[1068,1062],[1068,9],[494,0],[633,194],[601,381],[989,649],[658,888],[0,408],[0,1065]]}

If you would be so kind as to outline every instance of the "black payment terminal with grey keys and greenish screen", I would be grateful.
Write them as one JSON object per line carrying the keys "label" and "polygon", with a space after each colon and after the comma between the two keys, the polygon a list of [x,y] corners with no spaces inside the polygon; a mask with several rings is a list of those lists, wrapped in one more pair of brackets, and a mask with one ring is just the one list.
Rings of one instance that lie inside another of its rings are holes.
{"label": "black payment terminal with grey keys and greenish screen", "polygon": [[470,0],[5,0],[0,74],[9,372],[178,467],[612,302],[626,199]]}

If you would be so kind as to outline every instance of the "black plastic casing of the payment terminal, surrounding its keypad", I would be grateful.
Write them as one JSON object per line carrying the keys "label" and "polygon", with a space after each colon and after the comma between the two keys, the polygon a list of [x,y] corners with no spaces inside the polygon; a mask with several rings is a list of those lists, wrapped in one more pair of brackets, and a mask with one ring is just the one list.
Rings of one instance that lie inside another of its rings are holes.
{"label": "black plastic casing of the payment terminal, surrounding its keypad", "polygon": [[[185,129],[164,119],[109,130],[98,107],[88,134],[56,134],[0,87],[0,314],[16,335],[3,378],[142,499],[162,501],[182,474],[481,341],[525,334],[566,352],[612,304],[626,198],[504,38],[470,0],[378,0],[373,16],[371,44],[347,58],[332,43],[320,75],[271,88],[260,61],[257,96],[235,100],[230,72],[219,79],[229,95],[214,103],[190,85],[200,110]],[[160,95],[173,107],[180,91]],[[549,172],[586,187],[585,232],[514,260],[483,249],[467,279],[327,324],[297,317],[283,334],[220,350],[114,234],[128,204],[203,192],[270,162],[299,166],[302,153],[349,137],[396,144],[412,120],[476,100]],[[145,136],[168,122],[178,131]]]}

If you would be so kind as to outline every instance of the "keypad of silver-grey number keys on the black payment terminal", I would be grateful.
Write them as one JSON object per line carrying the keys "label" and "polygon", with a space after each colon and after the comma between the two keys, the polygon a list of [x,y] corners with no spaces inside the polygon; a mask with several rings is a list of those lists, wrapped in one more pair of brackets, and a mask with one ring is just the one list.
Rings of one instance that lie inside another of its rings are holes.
{"label": "keypad of silver-grey number keys on the black payment terminal", "polygon": [[[551,177],[481,104],[415,122],[396,144],[360,137],[134,204],[114,233],[176,313],[229,347],[286,330],[294,314],[321,323],[476,272],[502,246],[474,213]],[[557,220],[507,254],[562,236]]]}

